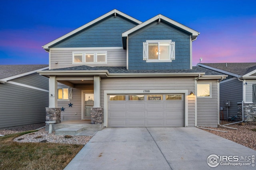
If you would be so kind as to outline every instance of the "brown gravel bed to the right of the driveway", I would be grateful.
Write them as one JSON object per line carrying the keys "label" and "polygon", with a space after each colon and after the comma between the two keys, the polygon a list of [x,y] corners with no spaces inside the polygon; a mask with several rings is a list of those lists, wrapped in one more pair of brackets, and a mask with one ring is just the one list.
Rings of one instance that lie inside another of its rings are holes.
{"label": "brown gravel bed to the right of the driveway", "polygon": [[[222,121],[220,125],[228,124],[231,122]],[[247,122],[245,125],[238,125],[232,124],[227,125],[228,127],[234,127],[236,129],[230,129],[226,127],[219,126],[218,128],[208,127],[210,129],[217,129],[221,131],[228,131],[228,133],[225,132],[219,132],[219,131],[212,131],[212,130],[206,130],[210,133],[213,133],[215,135],[218,135],[220,137],[224,137],[230,141],[234,141],[236,143],[239,143],[241,145],[244,145],[248,148],[256,150],[256,131],[253,131],[252,129],[256,130],[256,122]]]}

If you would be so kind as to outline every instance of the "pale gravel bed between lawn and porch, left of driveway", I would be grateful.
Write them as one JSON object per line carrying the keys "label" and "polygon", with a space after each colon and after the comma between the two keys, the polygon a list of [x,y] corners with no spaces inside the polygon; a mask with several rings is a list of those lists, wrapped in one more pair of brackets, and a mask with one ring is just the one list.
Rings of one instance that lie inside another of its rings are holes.
{"label": "pale gravel bed between lawn and porch, left of driveway", "polygon": [[[19,133],[22,131],[36,130],[37,132],[28,133],[14,139],[16,142],[34,142],[34,143],[64,143],[64,144],[77,144],[85,145],[90,141],[92,137],[82,136],[82,135],[55,135],[54,131],[51,134],[48,134],[48,131],[45,131],[45,123],[38,123],[32,125],[25,125],[23,127],[14,128],[14,129],[4,129],[0,130],[0,135],[8,135],[13,133]],[[39,129],[41,128],[41,129]]]}

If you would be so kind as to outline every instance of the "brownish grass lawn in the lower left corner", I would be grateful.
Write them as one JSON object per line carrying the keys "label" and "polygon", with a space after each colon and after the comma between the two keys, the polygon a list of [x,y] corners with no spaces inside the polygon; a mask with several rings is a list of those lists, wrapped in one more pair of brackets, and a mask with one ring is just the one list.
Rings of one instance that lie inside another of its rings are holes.
{"label": "brownish grass lawn in the lower left corner", "polygon": [[63,170],[84,147],[57,143],[18,143],[26,131],[0,137],[0,170]]}

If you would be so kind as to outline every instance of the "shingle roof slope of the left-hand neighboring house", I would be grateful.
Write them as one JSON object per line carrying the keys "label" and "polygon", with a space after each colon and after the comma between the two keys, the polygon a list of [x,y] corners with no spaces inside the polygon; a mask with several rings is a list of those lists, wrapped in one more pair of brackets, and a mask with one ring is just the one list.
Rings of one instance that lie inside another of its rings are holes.
{"label": "shingle roof slope of the left-hand neighboring house", "polygon": [[0,65],[0,79],[48,67],[48,64]]}

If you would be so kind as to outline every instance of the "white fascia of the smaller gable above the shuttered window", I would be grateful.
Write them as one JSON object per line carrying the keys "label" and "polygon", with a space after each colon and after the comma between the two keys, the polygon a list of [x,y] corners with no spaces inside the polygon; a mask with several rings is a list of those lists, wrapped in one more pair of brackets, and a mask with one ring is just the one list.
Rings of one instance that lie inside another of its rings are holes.
{"label": "white fascia of the smaller gable above the shuttered window", "polygon": [[146,25],[148,25],[148,24],[150,24],[150,23],[152,23],[152,22],[154,22],[156,20],[159,20],[159,19],[165,20],[165,21],[171,23],[172,25],[175,25],[175,26],[177,26],[177,27],[179,27],[179,28],[181,28],[181,29],[183,29],[185,31],[190,32],[192,34],[192,36],[193,36],[192,39],[195,39],[200,34],[199,32],[197,32],[197,31],[195,31],[195,30],[193,30],[193,29],[191,29],[189,27],[186,27],[185,25],[182,25],[181,23],[178,23],[178,22],[176,22],[174,20],[171,20],[170,18],[167,18],[167,17],[162,16],[161,14],[159,14],[159,15],[157,15],[157,16],[155,16],[155,17],[153,17],[153,18],[151,18],[151,19],[141,23],[140,25],[137,25],[136,27],[133,27],[132,29],[129,29],[128,31],[122,33],[122,37],[127,37],[129,34],[133,33],[134,31],[136,31],[136,30],[138,30],[138,29],[140,29],[142,27],[145,27]]}

